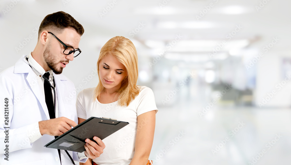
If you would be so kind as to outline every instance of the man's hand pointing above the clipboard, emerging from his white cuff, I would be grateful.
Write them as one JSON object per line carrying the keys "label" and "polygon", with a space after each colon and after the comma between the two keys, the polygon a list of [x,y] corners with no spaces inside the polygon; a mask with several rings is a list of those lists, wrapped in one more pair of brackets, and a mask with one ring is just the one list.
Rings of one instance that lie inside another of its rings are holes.
{"label": "man's hand pointing above the clipboard, emerging from his white cuff", "polygon": [[60,136],[68,130],[72,129],[71,126],[77,126],[77,123],[68,118],[60,117],[50,120],[39,121],[38,125],[41,135],[48,134],[51,136]]}

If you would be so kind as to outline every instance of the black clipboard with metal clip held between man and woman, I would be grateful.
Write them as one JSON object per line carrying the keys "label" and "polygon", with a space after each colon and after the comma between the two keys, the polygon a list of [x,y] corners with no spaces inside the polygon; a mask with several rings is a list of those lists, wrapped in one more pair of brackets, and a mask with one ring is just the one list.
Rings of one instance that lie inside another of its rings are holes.
{"label": "black clipboard with metal clip held between man and woman", "polygon": [[45,147],[60,150],[83,152],[85,151],[85,139],[93,140],[94,136],[101,140],[113,134],[119,129],[129,124],[128,122],[111,120],[111,118],[91,117],[80,123],[76,127],[68,130],[53,141],[47,143]]}

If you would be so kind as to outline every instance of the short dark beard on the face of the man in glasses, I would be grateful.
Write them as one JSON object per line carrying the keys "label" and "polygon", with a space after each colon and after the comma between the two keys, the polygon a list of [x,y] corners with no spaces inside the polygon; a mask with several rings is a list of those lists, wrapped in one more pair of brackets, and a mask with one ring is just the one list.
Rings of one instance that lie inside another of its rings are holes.
{"label": "short dark beard on the face of the man in glasses", "polygon": [[[49,51],[51,45],[49,44],[46,48],[45,51],[43,52],[43,57],[45,59],[45,62],[47,63],[47,66],[55,73],[55,74],[61,74],[63,72],[63,67],[60,67],[59,69],[57,68],[58,63],[54,63],[54,56],[52,53]],[[64,62],[69,62],[64,61]]]}

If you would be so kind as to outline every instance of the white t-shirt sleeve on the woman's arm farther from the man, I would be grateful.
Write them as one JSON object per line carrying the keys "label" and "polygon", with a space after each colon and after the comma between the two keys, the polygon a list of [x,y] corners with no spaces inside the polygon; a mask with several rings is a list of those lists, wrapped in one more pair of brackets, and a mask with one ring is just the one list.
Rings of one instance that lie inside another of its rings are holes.
{"label": "white t-shirt sleeve on the woman's arm farther from the man", "polygon": [[156,113],[158,112],[155,96],[151,88],[145,87],[142,89],[137,99],[137,116],[153,110],[156,110]]}

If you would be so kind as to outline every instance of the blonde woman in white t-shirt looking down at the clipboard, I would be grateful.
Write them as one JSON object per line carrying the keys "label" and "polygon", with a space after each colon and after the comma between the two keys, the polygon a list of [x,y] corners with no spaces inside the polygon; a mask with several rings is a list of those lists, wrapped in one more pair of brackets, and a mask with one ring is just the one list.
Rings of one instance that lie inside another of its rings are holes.
{"label": "blonde woman in white t-shirt looking down at the clipboard", "polygon": [[[103,139],[106,147],[100,157],[80,165],[146,165],[158,110],[152,90],[136,85],[138,60],[133,43],[121,36],[111,38],[101,48],[97,70],[97,87],[84,89],[78,94],[79,123],[94,116],[114,118],[129,124]],[[90,144],[85,146],[92,147]],[[85,155],[91,154],[85,151]]]}

